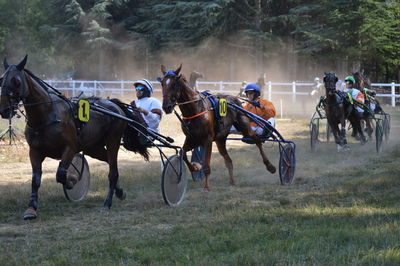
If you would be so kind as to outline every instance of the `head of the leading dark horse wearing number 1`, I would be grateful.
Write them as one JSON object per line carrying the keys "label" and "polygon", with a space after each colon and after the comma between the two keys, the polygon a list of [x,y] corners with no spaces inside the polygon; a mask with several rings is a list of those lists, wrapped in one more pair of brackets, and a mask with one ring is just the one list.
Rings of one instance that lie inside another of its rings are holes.
{"label": "head of the leading dark horse wearing number 1", "polygon": [[18,103],[29,94],[23,72],[27,58],[28,56],[26,55],[17,65],[9,65],[7,59],[4,58],[5,72],[0,78],[0,115],[2,118],[13,117],[16,113],[15,110],[18,108]]}

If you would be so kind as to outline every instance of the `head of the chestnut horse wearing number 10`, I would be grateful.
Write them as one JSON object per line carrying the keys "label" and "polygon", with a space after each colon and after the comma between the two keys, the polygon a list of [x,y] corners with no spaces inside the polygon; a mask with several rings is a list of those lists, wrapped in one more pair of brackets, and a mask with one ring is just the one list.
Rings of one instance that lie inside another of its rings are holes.
{"label": "head of the chestnut horse wearing number 10", "polygon": [[164,65],[161,65],[161,72],[163,77],[159,79],[162,87],[163,94],[163,110],[165,113],[170,114],[176,105],[180,93],[181,85],[179,79],[181,75],[179,74],[182,69],[182,64],[176,70],[167,70]]}

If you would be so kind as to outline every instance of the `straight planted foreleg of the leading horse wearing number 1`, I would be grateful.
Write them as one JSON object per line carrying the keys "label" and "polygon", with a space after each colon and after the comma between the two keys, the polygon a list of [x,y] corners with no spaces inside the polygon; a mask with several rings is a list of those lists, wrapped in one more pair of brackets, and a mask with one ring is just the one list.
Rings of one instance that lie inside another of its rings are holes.
{"label": "straight planted foreleg of the leading horse wearing number 1", "polygon": [[36,210],[38,208],[39,187],[42,180],[42,163],[44,156],[42,156],[38,151],[30,149],[29,158],[32,166],[32,190],[28,209],[23,215],[24,220],[31,220],[37,217]]}

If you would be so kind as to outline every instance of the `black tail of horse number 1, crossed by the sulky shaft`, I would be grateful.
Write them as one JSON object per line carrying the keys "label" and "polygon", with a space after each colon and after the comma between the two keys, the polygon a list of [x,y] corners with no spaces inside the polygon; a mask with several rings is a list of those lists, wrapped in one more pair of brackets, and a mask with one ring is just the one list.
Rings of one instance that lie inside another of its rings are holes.
{"label": "black tail of horse number 1, crossed by the sulky shaft", "polygon": [[[113,98],[110,99],[111,102],[115,103],[116,105],[118,105],[122,111],[124,111],[125,115],[138,122],[139,124],[141,124],[143,127],[147,128],[147,124],[144,121],[142,115],[140,114],[140,112],[133,110],[130,111],[128,109],[128,105],[121,102],[119,99]],[[143,158],[148,161],[149,160],[149,151],[148,151],[148,140],[145,136],[143,136],[143,134],[141,132],[139,132],[136,128],[140,128],[140,126],[137,127],[131,127],[128,126],[125,129],[124,135],[122,136],[123,139],[123,146],[125,149],[129,150],[129,151],[133,151],[135,153],[139,153],[140,155],[143,156]]]}

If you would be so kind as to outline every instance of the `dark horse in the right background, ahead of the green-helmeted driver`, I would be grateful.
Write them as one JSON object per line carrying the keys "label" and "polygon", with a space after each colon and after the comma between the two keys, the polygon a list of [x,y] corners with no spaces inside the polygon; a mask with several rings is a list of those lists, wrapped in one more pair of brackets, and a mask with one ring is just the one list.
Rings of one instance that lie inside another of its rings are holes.
{"label": "dark horse in the right background, ahead of the green-helmeted driver", "polygon": [[[338,151],[350,149],[346,139],[346,119],[349,119],[355,132],[360,134],[361,140],[366,141],[361,130],[360,118],[357,117],[354,107],[347,102],[347,94],[341,95],[341,92],[336,90],[336,83],[338,82],[336,75],[334,73],[325,73],[323,81],[326,93],[324,109]],[[340,131],[339,124],[341,125]]]}

